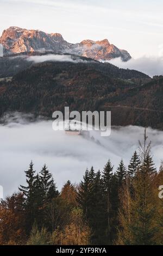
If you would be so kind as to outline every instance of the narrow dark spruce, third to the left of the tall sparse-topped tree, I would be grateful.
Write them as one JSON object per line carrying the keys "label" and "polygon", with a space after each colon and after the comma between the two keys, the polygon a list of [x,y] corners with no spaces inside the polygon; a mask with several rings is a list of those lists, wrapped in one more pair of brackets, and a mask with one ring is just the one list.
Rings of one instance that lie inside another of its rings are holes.
{"label": "narrow dark spruce, third to the left of the tall sparse-topped tree", "polygon": [[104,184],[104,197],[105,197],[105,205],[106,205],[106,236],[108,238],[108,242],[110,243],[110,231],[111,231],[111,223],[110,223],[110,216],[111,216],[111,202],[110,202],[110,193],[111,193],[111,179],[112,179],[112,171],[113,166],[110,160],[105,164],[103,170],[103,184]]}

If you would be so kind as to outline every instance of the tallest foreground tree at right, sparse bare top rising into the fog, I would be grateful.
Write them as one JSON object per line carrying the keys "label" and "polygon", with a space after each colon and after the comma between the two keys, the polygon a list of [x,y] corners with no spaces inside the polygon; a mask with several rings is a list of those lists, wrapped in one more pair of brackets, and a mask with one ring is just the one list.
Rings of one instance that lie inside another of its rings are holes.
{"label": "tallest foreground tree at right, sparse bare top rising into the fog", "polygon": [[155,168],[151,157],[151,142],[147,144],[146,129],[144,134],[143,146],[140,143],[140,171],[134,182],[135,198],[133,206],[135,207],[135,221],[130,230],[133,233],[134,244],[154,245],[155,232],[153,220],[155,218],[155,200],[153,198],[153,174]]}

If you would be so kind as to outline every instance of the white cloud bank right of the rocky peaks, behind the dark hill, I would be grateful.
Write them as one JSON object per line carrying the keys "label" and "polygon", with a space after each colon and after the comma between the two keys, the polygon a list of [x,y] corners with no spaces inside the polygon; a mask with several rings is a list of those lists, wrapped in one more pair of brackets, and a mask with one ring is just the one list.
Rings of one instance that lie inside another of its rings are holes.
{"label": "white cloud bank right of the rocky peaks, behind the dark hill", "polygon": [[111,64],[123,69],[135,69],[151,77],[163,74],[163,57],[141,57],[122,62],[121,58],[112,59]]}

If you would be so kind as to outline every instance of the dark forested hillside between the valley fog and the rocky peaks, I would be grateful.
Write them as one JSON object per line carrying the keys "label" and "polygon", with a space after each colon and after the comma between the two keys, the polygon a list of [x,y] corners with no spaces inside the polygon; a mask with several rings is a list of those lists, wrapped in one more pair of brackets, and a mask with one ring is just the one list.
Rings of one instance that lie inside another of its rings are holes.
{"label": "dark forested hillside between the valley fog and the rocky peaks", "polygon": [[32,112],[52,117],[55,110],[111,110],[112,125],[163,129],[162,77],[98,62],[45,62],[1,79],[0,114]]}

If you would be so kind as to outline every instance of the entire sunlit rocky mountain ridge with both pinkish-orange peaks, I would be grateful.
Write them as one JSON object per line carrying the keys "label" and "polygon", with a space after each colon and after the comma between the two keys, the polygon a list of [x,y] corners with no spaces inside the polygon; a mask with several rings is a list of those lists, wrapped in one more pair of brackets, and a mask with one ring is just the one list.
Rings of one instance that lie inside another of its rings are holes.
{"label": "entire sunlit rocky mountain ridge with both pinkish-orange peaks", "polygon": [[78,44],[70,44],[61,34],[47,34],[38,30],[27,30],[10,27],[3,31],[0,38],[4,55],[21,52],[58,51],[68,52],[96,60],[110,60],[121,57],[123,61],[131,58],[125,50],[118,49],[107,39],[102,41],[83,40]]}

